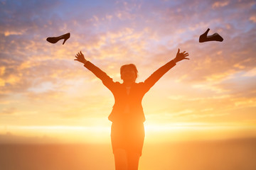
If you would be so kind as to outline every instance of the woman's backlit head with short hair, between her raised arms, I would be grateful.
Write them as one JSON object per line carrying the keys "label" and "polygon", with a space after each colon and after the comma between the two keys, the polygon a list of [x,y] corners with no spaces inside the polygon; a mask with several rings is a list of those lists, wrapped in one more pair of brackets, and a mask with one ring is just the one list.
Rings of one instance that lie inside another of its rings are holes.
{"label": "woman's backlit head with short hair, between her raised arms", "polygon": [[132,81],[138,77],[138,70],[134,64],[125,64],[120,68],[121,79],[123,81]]}

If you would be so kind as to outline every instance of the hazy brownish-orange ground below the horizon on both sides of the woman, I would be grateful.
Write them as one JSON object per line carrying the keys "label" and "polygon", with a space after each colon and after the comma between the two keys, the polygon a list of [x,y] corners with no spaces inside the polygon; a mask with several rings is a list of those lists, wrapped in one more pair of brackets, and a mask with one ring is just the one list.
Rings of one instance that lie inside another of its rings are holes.
{"label": "hazy brownish-orange ground below the horizon on both sides of the woman", "polygon": [[[139,170],[255,170],[256,139],[146,142]],[[111,145],[0,145],[3,170],[114,169]]]}

